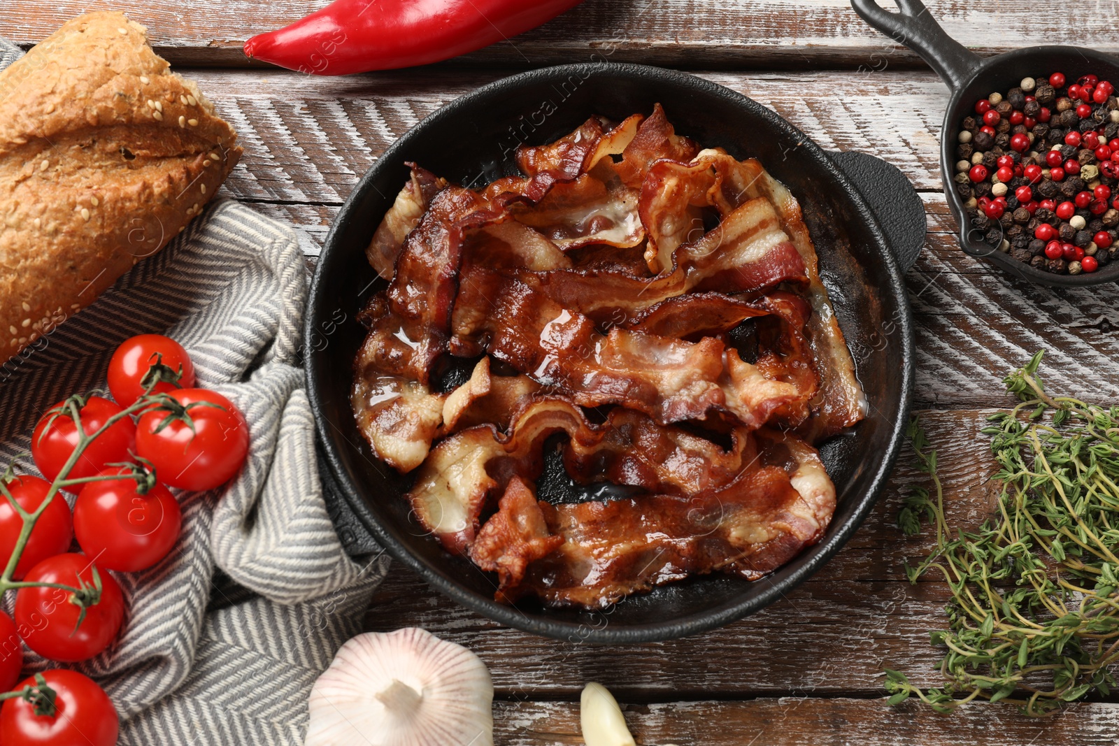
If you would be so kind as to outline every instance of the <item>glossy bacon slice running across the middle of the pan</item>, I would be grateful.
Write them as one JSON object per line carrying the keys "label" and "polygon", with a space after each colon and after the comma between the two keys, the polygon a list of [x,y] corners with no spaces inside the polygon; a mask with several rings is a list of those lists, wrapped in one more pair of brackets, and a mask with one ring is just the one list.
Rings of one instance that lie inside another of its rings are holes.
{"label": "glossy bacon slice running across the middle of the pan", "polygon": [[620,404],[660,424],[722,410],[760,427],[802,396],[715,338],[687,342],[617,328],[603,336],[591,319],[534,289],[530,273],[471,263],[462,277],[451,350],[485,351],[582,406]]}

